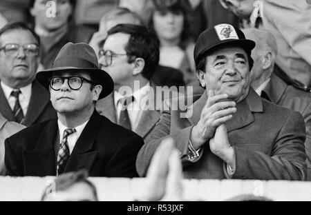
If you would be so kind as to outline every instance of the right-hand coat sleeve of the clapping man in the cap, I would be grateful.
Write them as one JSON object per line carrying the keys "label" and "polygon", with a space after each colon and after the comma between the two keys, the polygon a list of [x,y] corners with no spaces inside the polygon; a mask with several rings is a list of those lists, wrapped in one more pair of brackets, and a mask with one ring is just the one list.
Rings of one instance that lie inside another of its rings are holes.
{"label": "right-hand coat sleeve of the clapping man in the cap", "polygon": [[272,155],[234,147],[236,171],[232,178],[259,180],[305,180],[305,123],[292,112],[274,141]]}

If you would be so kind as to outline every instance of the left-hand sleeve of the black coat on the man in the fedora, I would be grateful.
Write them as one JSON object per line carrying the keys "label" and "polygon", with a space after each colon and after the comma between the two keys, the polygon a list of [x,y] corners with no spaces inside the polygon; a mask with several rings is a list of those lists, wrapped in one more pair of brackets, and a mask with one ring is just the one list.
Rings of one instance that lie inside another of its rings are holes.
{"label": "left-hand sleeve of the black coat on the man in the fedora", "polygon": [[6,147],[4,155],[4,164],[6,165],[6,176],[23,176],[22,165],[17,159],[17,154],[14,149],[12,149],[12,144],[10,139],[6,139],[4,142]]}

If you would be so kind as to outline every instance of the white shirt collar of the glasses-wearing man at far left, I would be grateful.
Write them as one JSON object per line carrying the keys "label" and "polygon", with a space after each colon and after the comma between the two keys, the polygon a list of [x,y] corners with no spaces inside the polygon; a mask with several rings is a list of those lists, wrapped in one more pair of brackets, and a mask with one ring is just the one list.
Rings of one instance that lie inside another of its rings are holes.
{"label": "white shirt collar of the glasses-wearing man at far left", "polygon": [[[23,116],[26,116],[26,113],[28,110],[28,105],[29,105],[30,96],[31,96],[31,87],[32,87],[32,83],[26,85],[23,88],[19,88],[19,90],[21,90],[21,93],[19,94],[19,104],[21,105],[21,110],[23,110]],[[6,99],[8,100],[8,103],[11,109],[14,110],[16,99],[14,96],[11,95],[11,93],[13,90],[18,90],[18,89],[10,88],[8,85],[3,83],[2,81],[1,81],[1,88],[3,90],[4,95],[6,96]]]}

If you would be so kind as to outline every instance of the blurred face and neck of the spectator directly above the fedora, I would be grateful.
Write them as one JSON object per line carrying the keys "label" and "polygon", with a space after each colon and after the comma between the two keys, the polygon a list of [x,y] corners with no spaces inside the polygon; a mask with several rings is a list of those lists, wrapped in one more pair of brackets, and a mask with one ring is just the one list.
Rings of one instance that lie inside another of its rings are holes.
{"label": "blurred face and neck of the spectator directly above the fedora", "polygon": [[69,25],[73,13],[73,0],[55,0],[54,2],[55,11],[51,10],[49,14],[51,17],[48,17],[46,0],[30,1],[30,13],[35,19],[35,32],[41,41],[39,52],[41,64],[46,69],[52,66],[59,50],[73,39]]}

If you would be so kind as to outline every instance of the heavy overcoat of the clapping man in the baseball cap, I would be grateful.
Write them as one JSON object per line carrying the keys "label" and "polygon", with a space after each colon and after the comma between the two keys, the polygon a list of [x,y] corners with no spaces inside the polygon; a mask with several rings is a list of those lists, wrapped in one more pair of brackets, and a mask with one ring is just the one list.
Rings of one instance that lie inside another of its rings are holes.
{"label": "heavy overcoat of the clapping man in the baseball cap", "polygon": [[[200,150],[198,161],[187,160],[191,129],[200,120],[207,94],[194,96],[193,101],[194,104],[188,105],[184,112],[162,112],[161,120],[151,134],[153,140],[145,144],[138,154],[136,167],[140,176],[146,174],[161,139],[170,135],[176,140],[176,146],[180,150],[185,178],[228,177],[224,161],[209,150],[208,142]],[[171,105],[174,102],[171,101]],[[229,143],[236,154],[236,171],[232,178],[304,180],[305,123],[301,114],[261,99],[252,88],[236,107],[237,112],[233,118],[225,123]]]}

